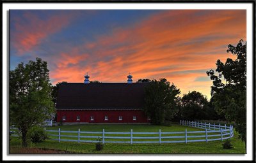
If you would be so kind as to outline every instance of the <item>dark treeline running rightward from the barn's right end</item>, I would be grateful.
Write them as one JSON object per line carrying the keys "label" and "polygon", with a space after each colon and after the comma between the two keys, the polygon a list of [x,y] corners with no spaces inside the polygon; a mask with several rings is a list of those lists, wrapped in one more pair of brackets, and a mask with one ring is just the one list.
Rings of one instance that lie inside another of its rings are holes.
{"label": "dark treeline running rightward from the barn's right end", "polygon": [[145,88],[145,113],[157,125],[179,122],[179,120],[225,120],[214,110],[212,100],[200,92],[188,92],[180,97],[180,89],[165,78],[160,80],[141,79]]}

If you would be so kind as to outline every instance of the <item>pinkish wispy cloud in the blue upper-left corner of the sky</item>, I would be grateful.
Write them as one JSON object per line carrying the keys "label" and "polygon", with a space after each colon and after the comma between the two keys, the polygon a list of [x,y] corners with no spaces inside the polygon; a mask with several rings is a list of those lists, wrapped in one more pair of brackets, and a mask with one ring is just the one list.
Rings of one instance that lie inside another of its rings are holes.
{"label": "pinkish wispy cloud in the blue upper-left corner of the sky", "polygon": [[[67,27],[77,16],[77,12],[70,12],[64,14],[63,12],[53,12],[46,18],[38,17],[33,11],[24,11],[22,17],[15,17],[11,12],[11,21],[13,24],[13,32],[11,32],[10,43],[17,51],[17,55],[24,55],[24,53],[31,50],[36,50],[44,39],[47,39],[52,34],[61,31]],[[41,11],[44,14],[47,11]]]}

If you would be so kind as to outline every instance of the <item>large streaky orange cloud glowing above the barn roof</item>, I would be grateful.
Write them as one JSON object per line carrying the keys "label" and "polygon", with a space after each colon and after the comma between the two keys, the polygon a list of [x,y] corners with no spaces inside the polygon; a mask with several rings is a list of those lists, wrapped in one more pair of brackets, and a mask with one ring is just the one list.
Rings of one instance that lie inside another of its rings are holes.
{"label": "large streaky orange cloud glowing above the barn roof", "polygon": [[[59,69],[51,71],[51,76],[54,83],[83,82],[88,71],[92,80],[126,82],[131,72],[134,81],[167,78],[182,94],[197,90],[210,98],[212,82],[195,79],[207,76],[205,70],[215,69],[217,59],[234,58],[226,52],[227,45],[239,39],[246,40],[244,10],[164,11],[97,36],[92,43],[76,47],[76,53],[61,54]],[[86,49],[92,52],[79,53]],[[86,64],[79,64],[81,60]],[[68,67],[70,63],[75,66]]]}

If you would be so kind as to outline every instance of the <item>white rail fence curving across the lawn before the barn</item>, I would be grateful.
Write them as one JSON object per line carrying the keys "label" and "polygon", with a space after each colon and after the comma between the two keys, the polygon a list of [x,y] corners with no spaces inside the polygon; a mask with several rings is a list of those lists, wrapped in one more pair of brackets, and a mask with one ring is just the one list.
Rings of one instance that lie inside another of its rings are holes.
{"label": "white rail fence curving across the lawn before the barn", "polygon": [[[234,136],[232,125],[215,125],[200,122],[180,120],[180,125],[195,127],[202,131],[176,131],[176,132],[110,132],[105,131],[61,131],[47,130],[50,139],[55,141],[74,141],[77,143],[95,143],[97,138],[102,138],[102,143],[189,143],[205,141],[223,141]],[[15,136],[15,135],[13,135]]]}

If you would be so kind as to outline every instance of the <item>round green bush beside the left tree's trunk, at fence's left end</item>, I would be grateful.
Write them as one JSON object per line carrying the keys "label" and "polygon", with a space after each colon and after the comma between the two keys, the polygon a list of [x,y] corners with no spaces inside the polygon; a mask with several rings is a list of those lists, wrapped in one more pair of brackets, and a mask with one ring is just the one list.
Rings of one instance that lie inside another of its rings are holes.
{"label": "round green bush beside the left tree's trunk, at fence's left end", "polygon": [[39,126],[32,127],[28,131],[27,136],[33,143],[39,143],[47,139],[47,134],[45,134],[44,129]]}

